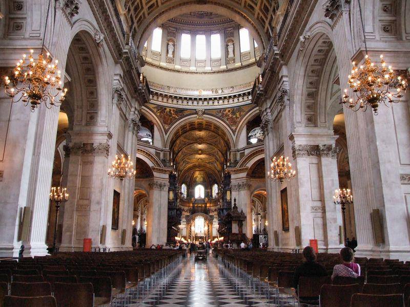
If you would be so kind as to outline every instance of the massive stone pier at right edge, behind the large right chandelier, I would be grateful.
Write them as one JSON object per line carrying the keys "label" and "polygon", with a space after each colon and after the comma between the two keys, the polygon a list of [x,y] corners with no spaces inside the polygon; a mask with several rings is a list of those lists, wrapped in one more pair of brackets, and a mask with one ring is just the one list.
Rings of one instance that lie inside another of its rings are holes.
{"label": "massive stone pier at right edge, behind the large right chandelier", "polygon": [[[357,4],[352,3],[352,10]],[[334,47],[338,60],[341,89],[348,88],[347,75],[352,69],[352,58],[357,53],[352,46],[362,46],[362,36],[352,38],[351,12],[348,9],[335,12],[332,30]],[[358,18],[355,22],[359,22]],[[360,27],[360,25],[357,25]],[[352,39],[356,41],[352,42]],[[410,66],[404,51],[394,48],[385,57],[387,63],[397,63],[401,69]],[[385,46],[384,46],[385,48]],[[379,52],[370,57],[377,60]],[[360,62],[364,53],[359,53],[355,60]],[[397,59],[405,59],[397,61]],[[393,65],[395,69],[395,65]],[[351,97],[355,97],[350,92]],[[408,106],[396,104],[393,108],[380,105],[379,114],[354,113],[344,107],[347,146],[352,178],[352,192],[355,209],[356,232],[358,240],[357,255],[367,257],[399,258],[408,260],[409,226],[407,221],[406,185],[400,178],[406,178],[406,165],[410,163],[408,155]],[[401,123],[401,124],[397,124]],[[406,184],[406,180],[403,180]],[[406,191],[406,192],[403,192]],[[371,213],[379,209],[382,220],[384,244],[376,244]]]}

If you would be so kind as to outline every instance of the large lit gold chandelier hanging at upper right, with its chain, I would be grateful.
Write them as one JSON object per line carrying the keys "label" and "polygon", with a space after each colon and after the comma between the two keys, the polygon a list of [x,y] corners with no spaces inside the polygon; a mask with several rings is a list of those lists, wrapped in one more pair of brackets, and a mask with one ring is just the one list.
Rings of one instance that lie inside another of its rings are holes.
{"label": "large lit gold chandelier hanging at upper right, with its chain", "polygon": [[[360,0],[359,10],[366,56],[364,64],[359,67],[356,66],[356,62],[353,62],[352,74],[348,76],[348,84],[356,93],[356,98],[350,98],[347,95],[347,89],[345,89],[342,103],[355,112],[359,109],[366,111],[367,107],[371,106],[374,114],[377,115],[381,103],[391,106],[393,102],[400,101],[407,90],[407,82],[400,76],[397,77],[391,66],[387,67],[383,55],[380,55],[381,67],[368,57]],[[398,101],[395,101],[395,98]]]}

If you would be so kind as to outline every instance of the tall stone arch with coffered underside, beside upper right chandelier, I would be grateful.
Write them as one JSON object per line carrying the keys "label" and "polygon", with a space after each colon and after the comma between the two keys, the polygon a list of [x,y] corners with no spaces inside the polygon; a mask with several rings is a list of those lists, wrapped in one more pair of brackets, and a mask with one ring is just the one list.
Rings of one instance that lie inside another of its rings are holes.
{"label": "tall stone arch with coffered underside, beside upper right chandelier", "polygon": [[332,68],[337,64],[333,33],[328,24],[319,22],[312,25],[304,37],[305,46],[300,47],[296,61],[296,67],[300,67],[300,70],[293,77],[291,85],[292,100],[295,101],[292,118],[296,128],[327,127],[328,103],[325,97],[329,92]]}

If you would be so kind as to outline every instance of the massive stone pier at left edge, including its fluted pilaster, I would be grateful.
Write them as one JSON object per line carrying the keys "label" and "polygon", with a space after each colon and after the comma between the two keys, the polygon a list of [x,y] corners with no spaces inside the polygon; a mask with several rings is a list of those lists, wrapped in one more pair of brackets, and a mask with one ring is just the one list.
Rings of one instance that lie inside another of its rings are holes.
{"label": "massive stone pier at left edge, including its fluted pilaster", "polygon": [[[59,60],[58,68],[64,75],[70,45],[71,22],[58,4],[55,10],[50,10],[52,11],[55,12],[55,16],[52,13],[49,15],[49,24],[52,19],[55,20],[53,41],[46,39],[45,46],[52,57]],[[46,8],[44,8],[44,13],[46,13]],[[42,37],[46,36],[43,29],[42,31]],[[50,34],[51,27],[47,31],[47,34]],[[35,47],[33,48],[35,54],[38,54],[40,49]],[[14,66],[14,60],[18,60],[17,55],[12,60],[13,63],[10,63],[10,67]],[[0,203],[4,212],[7,213],[0,218],[0,230],[3,233],[0,254],[17,256],[20,245],[24,244],[25,256],[46,255],[49,193],[59,107],[47,109],[42,104],[33,114],[29,114],[29,106],[24,107],[22,103],[16,103],[11,108],[6,104],[5,107],[7,111],[3,113],[2,109],[2,118],[9,125],[9,132],[7,142],[4,143],[6,155],[0,159],[7,162],[2,165],[1,169],[4,178],[2,185],[5,190],[0,190],[2,192]],[[6,141],[6,139],[3,140]],[[9,155],[13,157],[10,158]],[[22,210],[20,208],[26,206],[31,210],[30,229],[27,240],[20,242],[18,240],[20,210]]]}

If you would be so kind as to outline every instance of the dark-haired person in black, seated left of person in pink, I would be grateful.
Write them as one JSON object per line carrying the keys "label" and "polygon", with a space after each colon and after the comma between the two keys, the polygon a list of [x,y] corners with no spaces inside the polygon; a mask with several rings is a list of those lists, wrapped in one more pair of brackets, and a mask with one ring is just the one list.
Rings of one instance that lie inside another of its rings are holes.
{"label": "dark-haired person in black, seated left of person in pink", "polygon": [[298,289],[299,277],[327,276],[326,269],[316,262],[316,253],[311,246],[306,246],[302,252],[303,264],[296,268],[293,275],[292,287]]}

